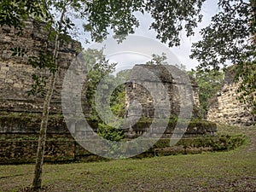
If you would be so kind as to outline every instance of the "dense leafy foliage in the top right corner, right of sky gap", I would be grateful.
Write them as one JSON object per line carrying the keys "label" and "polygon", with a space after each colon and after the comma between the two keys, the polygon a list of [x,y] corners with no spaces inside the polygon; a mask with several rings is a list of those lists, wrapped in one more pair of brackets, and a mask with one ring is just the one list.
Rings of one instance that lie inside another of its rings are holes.
{"label": "dense leafy foliage in the top right corner, right of sky gap", "polygon": [[[200,67],[219,69],[226,61],[233,64],[250,61],[255,45],[247,41],[255,33],[250,25],[253,7],[244,1],[218,1],[221,9],[212,17],[209,26],[201,30],[202,40],[193,44],[192,58],[201,62]],[[248,55],[249,54],[249,55]]]}

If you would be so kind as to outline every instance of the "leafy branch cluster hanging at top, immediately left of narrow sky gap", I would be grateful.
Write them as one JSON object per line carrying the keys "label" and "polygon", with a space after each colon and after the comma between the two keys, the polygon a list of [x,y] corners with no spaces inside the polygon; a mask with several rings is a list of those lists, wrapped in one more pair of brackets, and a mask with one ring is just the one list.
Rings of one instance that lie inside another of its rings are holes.
{"label": "leafy branch cluster hanging at top, immediately left of narrow sky gap", "polygon": [[146,1],[146,11],[154,18],[151,24],[157,38],[170,47],[180,44],[180,32],[184,29],[187,36],[194,34],[194,28],[201,22],[201,7],[205,0]]}

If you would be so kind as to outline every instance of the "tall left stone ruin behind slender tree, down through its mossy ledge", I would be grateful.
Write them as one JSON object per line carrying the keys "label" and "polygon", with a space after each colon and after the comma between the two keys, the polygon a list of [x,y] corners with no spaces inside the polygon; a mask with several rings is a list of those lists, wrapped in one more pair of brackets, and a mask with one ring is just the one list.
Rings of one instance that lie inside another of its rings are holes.
{"label": "tall left stone ruin behind slender tree, down through its mossy ledge", "polygon": [[[40,117],[44,105],[44,98],[40,95],[28,96],[27,91],[32,89],[32,74],[49,76],[47,70],[38,70],[27,64],[27,55],[38,55],[44,46],[48,32],[44,23],[27,20],[26,28],[20,36],[15,28],[3,26],[0,28],[0,133],[34,133],[40,125]],[[23,48],[28,51],[25,56],[12,56],[12,48]],[[49,44],[53,49],[54,44]],[[62,43],[58,56],[61,64],[55,90],[50,105],[50,113],[61,114],[62,79],[70,62],[78,54],[81,45],[71,40],[68,44]],[[49,119],[49,132],[64,131],[63,120]]]}

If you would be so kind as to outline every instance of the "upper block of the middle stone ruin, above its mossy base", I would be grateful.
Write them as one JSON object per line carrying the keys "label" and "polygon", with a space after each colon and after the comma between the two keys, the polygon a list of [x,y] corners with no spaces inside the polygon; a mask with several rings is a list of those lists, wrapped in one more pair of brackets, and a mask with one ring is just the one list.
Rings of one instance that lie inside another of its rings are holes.
{"label": "upper block of the middle stone ruin, above its mossy base", "polygon": [[[172,69],[174,71],[173,73],[177,73],[179,71],[177,67],[174,66],[172,66]],[[177,72],[175,72],[175,70]],[[178,78],[182,78],[181,76],[182,74]],[[189,79],[189,77],[187,78],[188,84],[182,84],[181,82],[183,82],[184,80],[179,80],[172,77],[172,74],[168,72],[168,69],[166,69],[165,66],[136,65],[131,70],[131,75],[129,79],[131,83],[126,84],[125,88],[126,108],[129,108],[130,102],[136,100],[143,106],[142,115],[145,117],[153,117],[153,103],[161,103],[165,101],[168,96],[171,108],[166,109],[168,111],[171,111],[173,116],[177,116],[180,113],[181,102],[183,102],[184,106],[188,106],[189,99],[191,99],[194,106],[192,112],[193,117],[198,117],[197,113],[200,108],[198,85],[195,83],[194,79]],[[133,82],[138,82],[138,84]],[[164,89],[161,89],[161,85],[166,88],[166,91]],[[191,90],[189,90],[189,85],[192,88]],[[181,94],[185,94],[186,100],[188,101],[181,101],[183,99],[183,97],[180,96]],[[152,95],[154,95],[155,98],[153,98]],[[163,110],[164,109],[165,107],[163,107]],[[129,115],[132,116],[137,114],[138,113],[135,110],[130,111]]]}

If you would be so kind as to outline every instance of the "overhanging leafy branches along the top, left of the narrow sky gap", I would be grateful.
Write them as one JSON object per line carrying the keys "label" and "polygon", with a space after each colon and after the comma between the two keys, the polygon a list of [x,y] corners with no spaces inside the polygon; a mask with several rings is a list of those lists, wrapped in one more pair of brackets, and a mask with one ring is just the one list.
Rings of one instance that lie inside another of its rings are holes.
{"label": "overhanging leafy branches along the top, left of the narrow sky gap", "polygon": [[[60,12],[63,7],[68,7],[76,18],[85,19],[84,31],[90,32],[92,40],[99,42],[107,38],[109,29],[115,37],[124,38],[125,35],[135,32],[139,22],[136,12],[148,12],[154,18],[151,28],[158,32],[157,38],[162,42],[168,41],[170,46],[180,44],[179,33],[186,30],[187,35],[193,35],[197,21],[201,21],[201,5],[204,0],[167,2],[167,1],[51,1],[51,0],[3,0],[0,4],[0,22],[9,26],[21,27],[23,20],[28,16],[52,20],[49,12],[55,8]],[[51,19],[49,19],[51,18]],[[163,22],[166,20],[166,22]],[[184,24],[184,25],[183,25]],[[73,27],[64,27],[64,32]]]}

